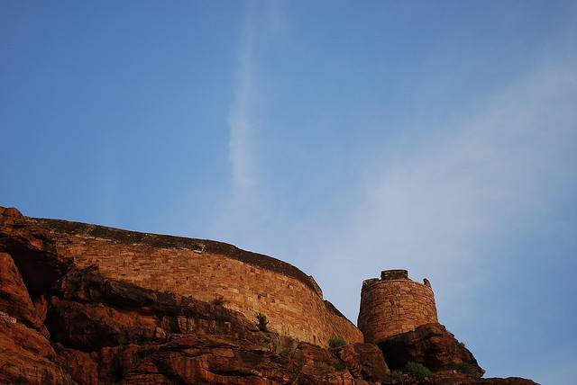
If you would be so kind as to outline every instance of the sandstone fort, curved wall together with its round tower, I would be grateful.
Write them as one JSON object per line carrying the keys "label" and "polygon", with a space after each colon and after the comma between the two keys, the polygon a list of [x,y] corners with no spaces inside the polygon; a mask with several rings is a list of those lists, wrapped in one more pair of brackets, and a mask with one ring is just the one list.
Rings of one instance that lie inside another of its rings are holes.
{"label": "sandstone fort, curved wall together with its round tower", "polygon": [[[0,209],[0,217],[14,210]],[[9,215],[22,216],[13,211]],[[197,300],[222,298],[224,307],[249,319],[266,315],[271,331],[323,347],[334,336],[349,343],[378,342],[437,322],[430,285],[409,280],[407,271],[384,271],[380,279],[363,282],[356,327],[324,300],[312,276],[267,255],[206,239],[60,219],[22,220],[50,239],[58,255],[79,267],[97,265],[109,279]]]}

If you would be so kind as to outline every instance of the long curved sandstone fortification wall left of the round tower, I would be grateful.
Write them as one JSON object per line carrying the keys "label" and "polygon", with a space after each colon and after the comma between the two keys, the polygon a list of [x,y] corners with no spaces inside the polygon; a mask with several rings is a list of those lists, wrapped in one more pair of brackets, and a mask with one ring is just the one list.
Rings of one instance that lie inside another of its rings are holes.
{"label": "long curved sandstone fortification wall left of the round tower", "polygon": [[199,300],[222,296],[224,306],[255,320],[261,312],[281,335],[326,346],[332,336],[362,342],[312,279],[296,267],[234,246],[181,237],[34,219],[50,232],[60,255],[79,266],[96,264],[107,277]]}

